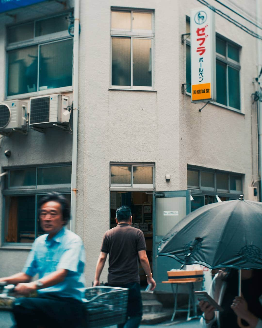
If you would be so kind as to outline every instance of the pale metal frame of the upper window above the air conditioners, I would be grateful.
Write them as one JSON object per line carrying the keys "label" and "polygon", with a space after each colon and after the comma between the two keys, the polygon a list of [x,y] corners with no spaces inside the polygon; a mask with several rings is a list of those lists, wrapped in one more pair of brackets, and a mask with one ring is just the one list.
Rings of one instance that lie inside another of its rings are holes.
{"label": "pale metal frame of the upper window above the air conditioners", "polygon": [[[54,42],[63,42],[64,40],[67,39],[73,39],[73,36],[69,35],[68,31],[59,31],[55,33],[50,33],[50,34],[45,34],[41,36],[35,36],[35,25],[37,21],[41,21],[44,19],[48,18],[53,18],[53,17],[58,17],[65,15],[66,13],[70,13],[72,10],[61,12],[59,14],[55,15],[50,15],[50,16],[45,16],[42,18],[34,19],[34,20],[28,20],[26,22],[23,22],[21,24],[14,24],[14,25],[9,25],[6,26],[6,35],[7,35],[7,30],[12,27],[19,27],[26,25],[28,23],[33,22],[33,38],[24,40],[24,41],[18,41],[18,42],[12,42],[8,44],[8,40],[6,38],[6,50],[5,50],[5,55],[6,55],[6,72],[5,72],[5,99],[16,99],[19,97],[19,99],[22,98],[29,98],[37,95],[45,95],[45,94],[50,94],[50,93],[61,93],[61,92],[68,92],[73,90],[73,63],[72,63],[72,85],[71,86],[65,86],[65,87],[59,87],[59,88],[53,88],[53,89],[47,89],[47,90],[38,90],[34,92],[27,92],[27,93],[18,93],[15,95],[8,95],[8,83],[9,83],[9,51],[12,50],[19,50],[31,46],[38,46],[37,50],[37,56],[38,56],[38,64],[37,64],[37,89],[39,89],[39,51],[40,51],[40,46],[46,45],[46,44],[51,44]],[[72,41],[73,42],[73,41]],[[72,54],[73,56],[73,54]]]}

